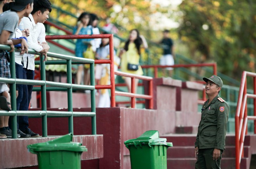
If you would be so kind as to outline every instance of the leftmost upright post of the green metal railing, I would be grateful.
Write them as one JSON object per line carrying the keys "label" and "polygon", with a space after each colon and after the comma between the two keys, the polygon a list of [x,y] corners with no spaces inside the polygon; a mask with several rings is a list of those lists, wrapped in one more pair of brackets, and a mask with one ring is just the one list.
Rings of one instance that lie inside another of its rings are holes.
{"label": "leftmost upright post of the green metal railing", "polygon": [[[16,79],[14,52],[10,52],[10,74],[12,79]],[[12,110],[16,111],[17,110],[16,83],[10,84],[10,95],[11,95]],[[12,121],[12,138],[17,138],[17,114],[15,114],[15,116],[11,116],[11,121]]]}

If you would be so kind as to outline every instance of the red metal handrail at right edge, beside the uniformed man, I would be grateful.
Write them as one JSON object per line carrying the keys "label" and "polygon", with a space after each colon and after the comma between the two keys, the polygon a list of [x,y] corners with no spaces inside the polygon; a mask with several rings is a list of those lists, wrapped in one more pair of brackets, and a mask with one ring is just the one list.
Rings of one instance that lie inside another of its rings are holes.
{"label": "red metal handrail at right edge, beside the uniformed man", "polygon": [[[247,93],[248,76],[253,77],[254,94]],[[247,98],[253,98],[254,116],[247,116]],[[244,71],[240,83],[237,109],[235,114],[235,166],[240,169],[240,162],[244,157],[244,138],[247,135],[247,121],[254,120],[254,134],[256,134],[256,73]]]}

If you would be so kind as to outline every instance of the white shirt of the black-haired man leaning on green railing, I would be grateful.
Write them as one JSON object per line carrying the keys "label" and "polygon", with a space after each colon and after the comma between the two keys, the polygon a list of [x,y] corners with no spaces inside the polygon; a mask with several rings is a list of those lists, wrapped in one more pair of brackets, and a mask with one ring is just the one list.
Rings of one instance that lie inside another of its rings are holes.
{"label": "white shirt of the black-haired man leaning on green railing", "polygon": [[[43,47],[39,43],[45,42],[45,26],[42,23],[35,24],[33,16],[29,14],[29,17],[23,17],[21,22],[24,24],[24,29],[29,29],[30,34],[27,38],[28,48],[33,49],[36,52],[40,52]],[[38,43],[39,42],[39,43]],[[24,67],[29,70],[35,70],[35,55],[24,54]]]}

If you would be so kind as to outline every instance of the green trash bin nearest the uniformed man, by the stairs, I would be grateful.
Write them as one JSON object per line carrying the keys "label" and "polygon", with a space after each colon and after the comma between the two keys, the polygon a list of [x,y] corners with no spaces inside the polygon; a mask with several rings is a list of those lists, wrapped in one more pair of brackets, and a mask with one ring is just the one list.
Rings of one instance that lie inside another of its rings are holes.
{"label": "green trash bin nearest the uniformed man, by the stairs", "polygon": [[166,151],[173,144],[159,138],[158,131],[150,130],[125,141],[125,146],[130,151],[131,169],[167,169]]}

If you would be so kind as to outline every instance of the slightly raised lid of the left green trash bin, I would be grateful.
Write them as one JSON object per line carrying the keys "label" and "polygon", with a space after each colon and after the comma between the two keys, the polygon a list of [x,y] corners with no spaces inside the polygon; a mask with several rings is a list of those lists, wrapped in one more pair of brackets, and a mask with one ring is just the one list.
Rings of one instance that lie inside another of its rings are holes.
{"label": "slightly raised lid of the left green trash bin", "polygon": [[70,133],[68,135],[62,136],[60,138],[50,140],[44,143],[37,143],[28,145],[27,148],[29,152],[36,154],[36,152],[43,151],[71,151],[71,152],[84,152],[87,151],[82,143],[72,142],[73,135]]}

